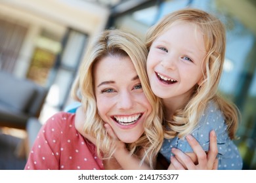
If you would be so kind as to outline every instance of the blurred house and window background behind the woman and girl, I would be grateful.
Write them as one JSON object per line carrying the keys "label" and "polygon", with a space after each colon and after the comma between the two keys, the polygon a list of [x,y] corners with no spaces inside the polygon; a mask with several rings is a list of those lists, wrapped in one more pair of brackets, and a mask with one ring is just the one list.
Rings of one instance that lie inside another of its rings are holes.
{"label": "blurred house and window background behind the woman and girl", "polygon": [[219,91],[242,113],[235,142],[243,169],[256,169],[256,0],[0,0],[0,169],[24,169],[27,140],[38,130],[30,120],[43,124],[74,102],[70,87],[91,37],[115,27],[144,39],[148,27],[184,7],[226,25]]}

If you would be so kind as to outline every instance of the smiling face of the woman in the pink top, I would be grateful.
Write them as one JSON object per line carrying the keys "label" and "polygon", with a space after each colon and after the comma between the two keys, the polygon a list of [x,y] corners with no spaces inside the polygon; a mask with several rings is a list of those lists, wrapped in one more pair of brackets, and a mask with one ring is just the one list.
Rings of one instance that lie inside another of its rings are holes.
{"label": "smiling face of the woman in the pink top", "polygon": [[120,141],[135,142],[144,133],[152,107],[129,57],[108,56],[94,67],[98,114],[110,124]]}

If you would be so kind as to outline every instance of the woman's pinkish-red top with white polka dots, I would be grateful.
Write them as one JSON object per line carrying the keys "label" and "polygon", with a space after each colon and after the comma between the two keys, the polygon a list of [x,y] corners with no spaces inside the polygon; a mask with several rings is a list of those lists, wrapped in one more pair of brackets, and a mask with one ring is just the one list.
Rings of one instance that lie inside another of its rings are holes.
{"label": "woman's pinkish-red top with white polka dots", "polygon": [[102,170],[96,147],[75,129],[75,114],[58,112],[41,127],[26,170]]}

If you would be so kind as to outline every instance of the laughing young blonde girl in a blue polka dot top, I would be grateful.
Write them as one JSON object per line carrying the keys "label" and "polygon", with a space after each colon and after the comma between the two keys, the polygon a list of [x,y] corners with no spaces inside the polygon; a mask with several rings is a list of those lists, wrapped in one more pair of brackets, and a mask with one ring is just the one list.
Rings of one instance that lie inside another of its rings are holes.
{"label": "laughing young blonde girl in a blue polka dot top", "polygon": [[160,152],[166,159],[173,159],[173,147],[195,159],[184,139],[189,133],[207,152],[208,134],[214,129],[218,169],[242,169],[242,158],[232,141],[238,127],[238,110],[217,94],[225,39],[220,20],[192,8],[167,14],[146,35],[148,78],[164,108],[165,141]]}

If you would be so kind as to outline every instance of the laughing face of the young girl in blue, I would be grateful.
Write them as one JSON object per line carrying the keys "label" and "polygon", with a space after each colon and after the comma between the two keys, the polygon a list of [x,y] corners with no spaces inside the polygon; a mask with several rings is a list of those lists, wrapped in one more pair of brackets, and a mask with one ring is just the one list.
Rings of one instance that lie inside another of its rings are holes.
{"label": "laughing face of the young girl in blue", "polygon": [[147,72],[152,91],[160,98],[184,101],[203,79],[203,35],[196,25],[179,22],[150,47]]}

